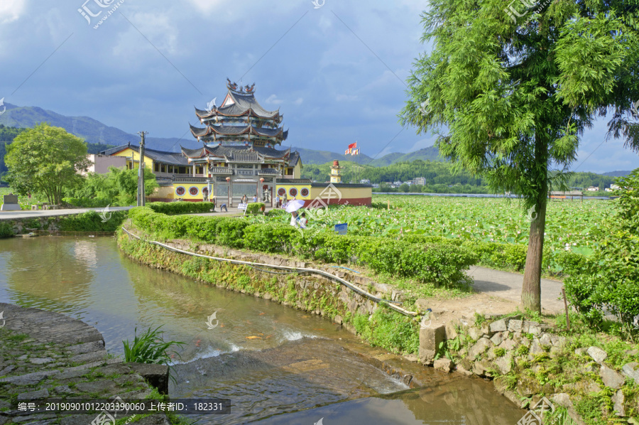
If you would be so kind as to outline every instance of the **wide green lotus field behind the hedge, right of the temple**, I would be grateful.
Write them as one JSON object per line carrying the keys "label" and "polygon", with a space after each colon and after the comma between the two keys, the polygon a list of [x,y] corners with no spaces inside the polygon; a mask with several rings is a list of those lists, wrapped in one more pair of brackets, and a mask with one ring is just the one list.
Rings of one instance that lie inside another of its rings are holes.
{"label": "wide green lotus field behind the hedge, right of the temple", "polygon": [[[388,201],[391,209],[387,210]],[[520,200],[373,195],[373,206],[310,210],[310,229],[348,223],[350,235],[439,236],[464,241],[528,244],[530,221]],[[545,247],[588,255],[591,232],[612,208],[608,200],[552,200],[547,206]],[[532,218],[536,216],[532,212]],[[283,220],[276,217],[275,220]],[[288,217],[286,218],[288,220]]]}

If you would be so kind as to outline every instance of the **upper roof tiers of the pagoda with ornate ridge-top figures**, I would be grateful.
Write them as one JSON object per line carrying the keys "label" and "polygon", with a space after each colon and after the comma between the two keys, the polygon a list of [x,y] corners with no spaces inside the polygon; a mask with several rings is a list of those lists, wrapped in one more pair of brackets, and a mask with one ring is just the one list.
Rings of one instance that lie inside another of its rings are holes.
{"label": "upper roof tiers of the pagoda with ornate ridge-top figures", "polygon": [[280,110],[267,111],[255,99],[255,84],[239,87],[226,79],[229,92],[222,105],[211,105],[209,110],[195,108],[200,124],[191,126],[191,134],[204,145],[237,145],[273,147],[282,144],[288,130],[280,127]]}

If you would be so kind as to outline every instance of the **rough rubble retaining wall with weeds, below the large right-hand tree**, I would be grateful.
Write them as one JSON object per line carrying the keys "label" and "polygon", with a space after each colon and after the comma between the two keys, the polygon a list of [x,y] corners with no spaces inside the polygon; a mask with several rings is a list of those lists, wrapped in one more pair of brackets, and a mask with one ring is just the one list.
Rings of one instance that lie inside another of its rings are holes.
{"label": "rough rubble retaining wall with weeds, below the large right-hand tree", "polygon": [[[626,399],[624,395],[624,390],[632,388],[631,382],[639,382],[639,362],[628,362],[616,370],[606,362],[608,353],[601,348],[575,348],[572,340],[555,335],[543,323],[521,316],[481,319],[442,323],[433,313],[430,321],[420,326],[420,362],[447,372],[494,379],[498,392],[521,407],[527,402],[534,405],[546,394],[553,403],[565,407],[577,424],[584,421],[574,403],[593,397],[592,393],[612,394],[613,407],[606,412],[609,416],[623,417],[630,409],[639,411],[639,397],[635,394]],[[446,351],[450,358],[444,357]],[[639,360],[638,350],[626,355]],[[565,370],[552,369],[552,360],[557,357],[567,360],[562,363],[567,365]],[[553,377],[565,383],[558,387]]]}

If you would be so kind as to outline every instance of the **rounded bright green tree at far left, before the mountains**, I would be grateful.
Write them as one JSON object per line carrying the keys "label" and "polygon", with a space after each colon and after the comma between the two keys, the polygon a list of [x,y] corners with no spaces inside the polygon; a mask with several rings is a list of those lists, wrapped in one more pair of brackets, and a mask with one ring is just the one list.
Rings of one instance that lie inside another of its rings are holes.
{"label": "rounded bright green tree at far left, before the mountains", "polygon": [[21,195],[43,193],[60,204],[62,190],[77,183],[87,171],[87,144],[60,127],[46,123],[18,134],[4,157],[9,168],[6,181]]}

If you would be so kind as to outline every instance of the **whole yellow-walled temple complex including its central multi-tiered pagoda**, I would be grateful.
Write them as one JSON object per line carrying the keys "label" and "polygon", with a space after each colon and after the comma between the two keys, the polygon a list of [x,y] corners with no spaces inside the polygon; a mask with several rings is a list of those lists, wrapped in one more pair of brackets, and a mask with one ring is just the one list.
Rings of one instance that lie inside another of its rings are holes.
{"label": "whole yellow-walled temple complex including its central multi-tiered pagoda", "polygon": [[99,156],[124,156],[126,168],[140,162],[150,168],[160,184],[150,201],[202,201],[214,195],[218,205],[235,207],[246,195],[272,207],[280,195],[305,200],[307,205],[318,197],[326,205],[370,205],[371,186],[341,183],[339,163],[331,176],[336,185],[301,178],[300,154],[278,149],[288,139],[279,109],[264,109],[255,98],[254,84],[241,87],[226,81],[228,91],[219,107],[211,102],[207,109],[195,108],[200,127],[190,125],[190,131],[201,147],[180,146],[181,152],[173,153],[147,146],[140,161],[139,147],[126,144]]}

